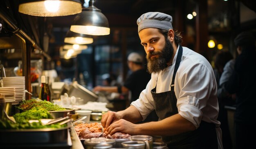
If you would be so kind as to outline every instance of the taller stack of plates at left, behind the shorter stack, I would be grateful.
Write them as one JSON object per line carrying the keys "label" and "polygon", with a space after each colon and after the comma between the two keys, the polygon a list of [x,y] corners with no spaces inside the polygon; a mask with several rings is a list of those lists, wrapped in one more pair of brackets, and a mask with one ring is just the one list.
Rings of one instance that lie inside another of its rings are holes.
{"label": "taller stack of plates at left, behind the shorter stack", "polygon": [[2,79],[4,87],[15,88],[15,100],[12,105],[17,105],[20,101],[25,100],[25,77],[3,77]]}

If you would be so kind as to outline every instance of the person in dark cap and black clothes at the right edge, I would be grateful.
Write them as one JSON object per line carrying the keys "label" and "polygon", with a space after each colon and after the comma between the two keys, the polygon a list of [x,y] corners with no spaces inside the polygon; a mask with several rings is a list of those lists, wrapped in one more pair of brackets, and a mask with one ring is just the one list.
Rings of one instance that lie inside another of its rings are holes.
{"label": "person in dark cap and black clothes at the right edge", "polygon": [[247,149],[254,145],[256,134],[256,46],[255,37],[250,32],[242,32],[236,36],[234,43],[238,57],[234,64],[225,89],[229,94],[236,94],[236,111],[234,128],[236,149]]}

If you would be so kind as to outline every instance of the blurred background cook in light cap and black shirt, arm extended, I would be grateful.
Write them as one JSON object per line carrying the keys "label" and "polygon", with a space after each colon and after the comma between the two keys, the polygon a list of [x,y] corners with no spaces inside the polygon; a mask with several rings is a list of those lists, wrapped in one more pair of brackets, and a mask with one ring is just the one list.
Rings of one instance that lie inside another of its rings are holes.
{"label": "blurred background cook in light cap and black shirt, arm extended", "polygon": [[139,94],[146,88],[148,81],[150,80],[150,74],[144,70],[143,57],[139,53],[132,52],[128,55],[127,63],[132,74],[124,82],[124,85],[119,86],[96,86],[93,91],[106,91],[106,92],[119,92],[128,93],[131,91],[131,101],[135,101],[139,98]]}

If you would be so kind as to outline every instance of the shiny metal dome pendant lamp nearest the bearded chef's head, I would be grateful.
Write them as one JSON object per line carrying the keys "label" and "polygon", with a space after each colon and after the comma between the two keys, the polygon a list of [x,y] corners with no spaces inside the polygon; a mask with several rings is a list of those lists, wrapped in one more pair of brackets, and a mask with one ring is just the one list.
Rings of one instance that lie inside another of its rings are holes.
{"label": "shiny metal dome pendant lamp nearest the bearded chef's head", "polygon": [[74,18],[70,31],[87,35],[109,35],[108,19],[101,10],[94,7],[95,0],[90,0],[89,7],[84,8]]}

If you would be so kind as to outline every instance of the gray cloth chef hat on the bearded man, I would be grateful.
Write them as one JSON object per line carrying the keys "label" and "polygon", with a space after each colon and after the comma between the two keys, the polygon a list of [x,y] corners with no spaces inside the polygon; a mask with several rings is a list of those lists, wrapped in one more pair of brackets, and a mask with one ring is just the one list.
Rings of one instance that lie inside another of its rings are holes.
{"label": "gray cloth chef hat on the bearded man", "polygon": [[138,20],[138,33],[144,28],[173,29],[171,15],[160,12],[148,12],[141,15]]}

